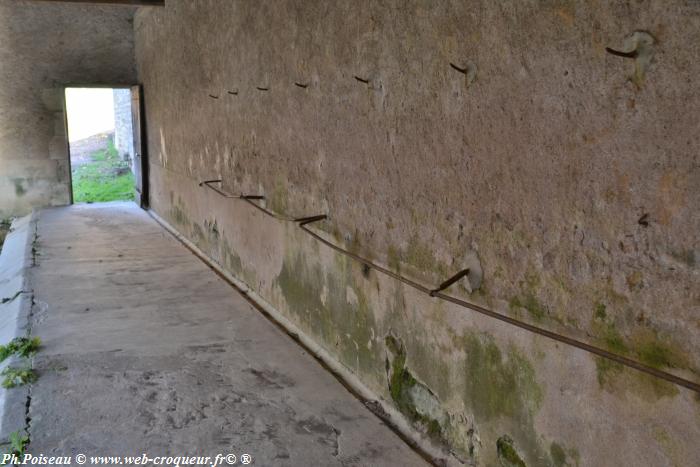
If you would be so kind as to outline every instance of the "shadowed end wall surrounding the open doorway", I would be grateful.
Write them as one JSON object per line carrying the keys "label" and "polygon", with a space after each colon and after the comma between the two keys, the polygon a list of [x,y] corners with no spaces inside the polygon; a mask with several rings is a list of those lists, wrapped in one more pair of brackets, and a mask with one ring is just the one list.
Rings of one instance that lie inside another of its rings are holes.
{"label": "shadowed end wall surrounding the open doorway", "polygon": [[136,81],[134,11],[0,0],[0,217],[70,202],[63,85]]}

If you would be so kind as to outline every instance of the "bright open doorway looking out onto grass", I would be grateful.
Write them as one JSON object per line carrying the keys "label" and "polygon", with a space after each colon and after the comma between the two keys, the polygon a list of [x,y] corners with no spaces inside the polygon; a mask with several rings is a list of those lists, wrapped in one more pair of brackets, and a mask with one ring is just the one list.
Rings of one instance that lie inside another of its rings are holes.
{"label": "bright open doorway looking out onto grass", "polygon": [[74,203],[134,201],[134,128],[129,88],[65,90]]}

